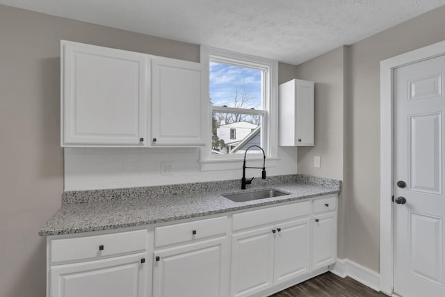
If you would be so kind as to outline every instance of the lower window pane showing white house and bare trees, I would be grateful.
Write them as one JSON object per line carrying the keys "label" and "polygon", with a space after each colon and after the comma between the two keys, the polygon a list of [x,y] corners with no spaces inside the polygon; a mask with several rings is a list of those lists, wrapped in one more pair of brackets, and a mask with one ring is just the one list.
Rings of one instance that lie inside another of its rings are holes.
{"label": "lower window pane showing white house and bare trees", "polygon": [[[250,145],[261,146],[262,115],[212,114],[212,154],[244,154]],[[249,153],[259,152],[252,147]]]}

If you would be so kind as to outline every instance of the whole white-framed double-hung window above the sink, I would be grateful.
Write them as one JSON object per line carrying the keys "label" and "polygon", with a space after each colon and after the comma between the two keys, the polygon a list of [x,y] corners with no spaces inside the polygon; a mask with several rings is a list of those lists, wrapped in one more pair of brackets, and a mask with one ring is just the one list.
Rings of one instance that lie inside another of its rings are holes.
{"label": "whole white-framed double-hung window above the sink", "polygon": [[201,47],[201,62],[209,71],[210,136],[201,162],[241,159],[250,145],[276,157],[277,62],[210,47]]}

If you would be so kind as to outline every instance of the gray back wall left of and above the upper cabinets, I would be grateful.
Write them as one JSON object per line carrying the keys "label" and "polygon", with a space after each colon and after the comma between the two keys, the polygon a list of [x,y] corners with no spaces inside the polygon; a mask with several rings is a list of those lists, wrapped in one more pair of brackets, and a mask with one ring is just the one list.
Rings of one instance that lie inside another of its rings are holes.
{"label": "gray back wall left of and above the upper cabinets", "polygon": [[[199,61],[198,45],[0,5],[0,296],[45,296],[38,229],[60,207],[60,40]],[[280,64],[281,81],[294,66]],[[290,71],[290,72],[289,72]]]}

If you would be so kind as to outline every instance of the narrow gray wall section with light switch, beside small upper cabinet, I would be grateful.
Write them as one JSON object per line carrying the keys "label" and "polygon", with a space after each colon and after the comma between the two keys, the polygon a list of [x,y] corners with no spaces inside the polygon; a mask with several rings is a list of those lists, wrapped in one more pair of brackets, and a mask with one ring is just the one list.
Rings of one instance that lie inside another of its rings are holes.
{"label": "narrow gray wall section with light switch, beside small upper cabinet", "polygon": [[[298,172],[341,179],[343,177],[343,106],[345,54],[339,47],[296,67],[296,78],[315,83],[315,146],[298,147]],[[314,156],[321,156],[321,167],[314,168]],[[339,195],[338,257],[344,258],[345,208]]]}

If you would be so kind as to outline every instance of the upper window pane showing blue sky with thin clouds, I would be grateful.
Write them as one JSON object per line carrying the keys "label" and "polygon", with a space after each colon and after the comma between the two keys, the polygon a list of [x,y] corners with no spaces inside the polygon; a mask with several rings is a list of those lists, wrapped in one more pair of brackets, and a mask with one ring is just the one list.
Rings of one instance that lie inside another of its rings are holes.
{"label": "upper window pane showing blue sky with thin clouds", "polygon": [[209,76],[211,105],[263,109],[261,70],[210,62]]}

